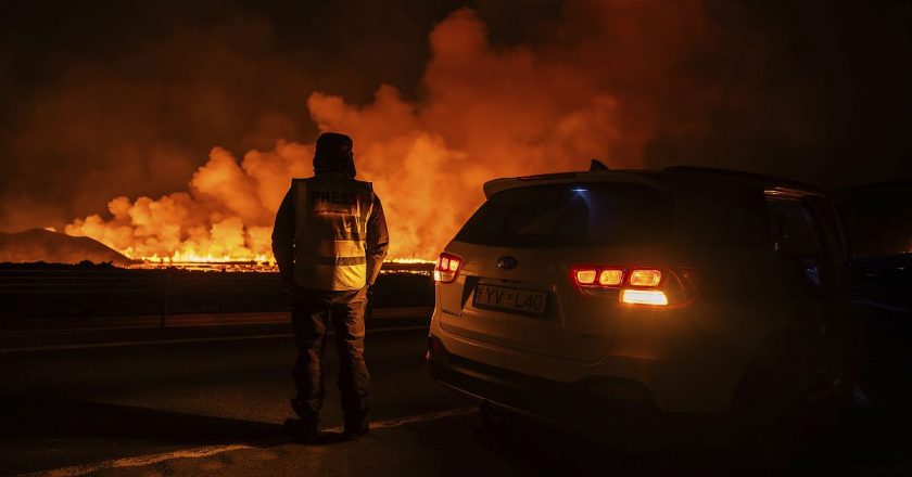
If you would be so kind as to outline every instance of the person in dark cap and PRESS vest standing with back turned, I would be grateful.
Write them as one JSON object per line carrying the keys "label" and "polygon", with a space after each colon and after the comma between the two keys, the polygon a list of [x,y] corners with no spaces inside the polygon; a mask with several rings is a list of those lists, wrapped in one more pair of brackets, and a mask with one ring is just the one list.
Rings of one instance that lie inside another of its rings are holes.
{"label": "person in dark cap and PRESS vest standing with back turned", "polygon": [[325,132],[317,139],[314,177],[292,179],[273,229],[273,254],[292,296],[297,345],[291,407],[297,420],[286,430],[314,442],[325,396],[320,360],[327,320],[335,330],[339,392],[345,437],[367,434],[370,374],[364,361],[364,312],[389,248],[387,220],[369,182],[355,180],[352,139]]}

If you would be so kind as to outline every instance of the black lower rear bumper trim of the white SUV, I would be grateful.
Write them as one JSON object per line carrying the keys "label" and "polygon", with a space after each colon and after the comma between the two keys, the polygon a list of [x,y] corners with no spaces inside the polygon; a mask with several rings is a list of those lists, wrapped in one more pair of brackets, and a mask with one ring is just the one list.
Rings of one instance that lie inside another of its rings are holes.
{"label": "black lower rear bumper trim of the white SUV", "polygon": [[644,418],[661,415],[648,390],[629,379],[545,379],[452,354],[440,340],[429,347],[428,364],[436,382],[463,396],[574,427],[618,426],[634,420],[642,425]]}

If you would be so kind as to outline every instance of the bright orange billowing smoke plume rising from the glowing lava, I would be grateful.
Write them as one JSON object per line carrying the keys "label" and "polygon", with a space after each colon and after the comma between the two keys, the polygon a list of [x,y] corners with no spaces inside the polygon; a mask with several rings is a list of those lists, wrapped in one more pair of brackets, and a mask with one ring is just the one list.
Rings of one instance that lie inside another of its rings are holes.
{"label": "bright orange billowing smoke plume rising from the glowing lava", "polygon": [[[642,78],[660,78],[693,37],[681,26],[691,25],[682,21],[686,5],[645,3],[570,7],[554,44],[536,49],[493,47],[484,24],[460,10],[431,31],[421,101],[389,85],[366,105],[313,93],[319,129],[354,138],[358,178],[373,182],[388,215],[390,256],[435,257],[481,204],[487,179],[581,169],[593,157],[635,166],[655,112],[631,91]],[[583,20],[590,30],[570,26]],[[667,38],[668,48],[639,39],[647,34]],[[110,218],[77,219],[66,233],[132,258],[267,261],[275,211],[290,179],[313,173],[312,157],[312,145],[281,141],[239,164],[215,147],[189,192],[117,197]]]}

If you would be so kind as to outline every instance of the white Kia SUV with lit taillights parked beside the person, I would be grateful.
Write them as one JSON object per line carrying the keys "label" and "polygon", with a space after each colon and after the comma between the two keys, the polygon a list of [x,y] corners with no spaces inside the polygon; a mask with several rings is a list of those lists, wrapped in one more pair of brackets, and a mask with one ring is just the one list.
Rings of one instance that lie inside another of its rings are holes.
{"label": "white Kia SUV with lit taillights parked beside the person", "polygon": [[484,193],[434,271],[446,387],[584,426],[850,390],[841,237],[813,189],[594,163]]}

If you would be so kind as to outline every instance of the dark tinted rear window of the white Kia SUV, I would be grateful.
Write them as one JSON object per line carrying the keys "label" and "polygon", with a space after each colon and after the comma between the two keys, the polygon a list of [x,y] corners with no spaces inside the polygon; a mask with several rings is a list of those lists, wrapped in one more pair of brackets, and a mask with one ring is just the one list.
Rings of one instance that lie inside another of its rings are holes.
{"label": "dark tinted rear window of the white Kia SUV", "polygon": [[456,241],[493,246],[585,246],[666,240],[671,194],[631,183],[561,183],[492,196]]}

